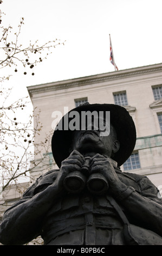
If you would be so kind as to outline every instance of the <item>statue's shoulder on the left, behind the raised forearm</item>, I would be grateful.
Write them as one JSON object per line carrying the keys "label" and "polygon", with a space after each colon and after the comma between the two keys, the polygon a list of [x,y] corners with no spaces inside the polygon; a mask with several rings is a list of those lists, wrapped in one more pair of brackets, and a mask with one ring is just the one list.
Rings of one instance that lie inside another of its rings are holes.
{"label": "statue's shoulder on the left, behind the raised forearm", "polygon": [[36,193],[41,192],[49,185],[53,184],[57,178],[59,169],[50,170],[47,173],[42,174],[36,179],[35,183],[31,185],[27,191],[24,192],[23,197],[34,196]]}

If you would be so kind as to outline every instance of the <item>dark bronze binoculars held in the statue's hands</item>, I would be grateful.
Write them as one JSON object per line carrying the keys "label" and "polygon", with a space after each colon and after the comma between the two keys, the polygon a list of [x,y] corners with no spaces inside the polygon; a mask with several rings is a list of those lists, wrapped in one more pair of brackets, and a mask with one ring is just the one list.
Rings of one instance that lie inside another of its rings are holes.
{"label": "dark bronze binoculars held in the statue's hands", "polygon": [[90,157],[85,157],[85,164],[82,166],[81,172],[75,171],[69,173],[64,179],[64,187],[70,193],[79,193],[87,184],[88,190],[93,194],[103,194],[108,190],[108,182],[100,173],[89,175]]}

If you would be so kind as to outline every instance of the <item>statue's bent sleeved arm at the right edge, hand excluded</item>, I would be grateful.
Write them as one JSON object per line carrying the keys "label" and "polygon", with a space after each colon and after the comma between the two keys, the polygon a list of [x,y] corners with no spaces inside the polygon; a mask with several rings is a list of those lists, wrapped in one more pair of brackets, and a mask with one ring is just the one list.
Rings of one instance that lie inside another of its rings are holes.
{"label": "statue's bent sleeved arm at the right edge, hand excluded", "polygon": [[137,223],[162,236],[162,200],[158,198],[158,190],[148,178],[141,179],[141,183],[140,194],[120,184],[114,195]]}

